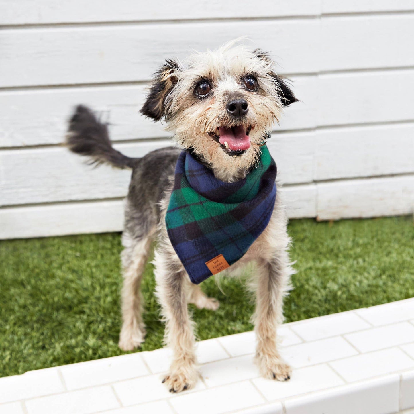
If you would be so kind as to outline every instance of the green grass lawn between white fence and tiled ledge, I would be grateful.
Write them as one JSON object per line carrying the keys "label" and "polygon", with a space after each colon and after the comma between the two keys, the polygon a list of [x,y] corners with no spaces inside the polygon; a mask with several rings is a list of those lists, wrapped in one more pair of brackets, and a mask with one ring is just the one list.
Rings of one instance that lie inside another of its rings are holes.
{"label": "green grass lawn between white fence and tiled ledge", "polygon": [[[289,224],[298,271],[286,298],[286,321],[414,296],[412,217]],[[119,355],[120,234],[0,242],[0,376]],[[253,298],[243,283],[210,278],[217,312],[191,305],[199,339],[251,330]],[[162,346],[164,327],[153,294],[152,265],[144,275],[147,339]]]}

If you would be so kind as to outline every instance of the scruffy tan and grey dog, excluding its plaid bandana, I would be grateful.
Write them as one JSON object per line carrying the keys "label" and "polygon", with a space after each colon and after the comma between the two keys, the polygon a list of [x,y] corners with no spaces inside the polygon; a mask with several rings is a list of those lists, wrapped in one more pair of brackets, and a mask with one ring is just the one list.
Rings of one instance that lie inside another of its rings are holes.
{"label": "scruffy tan and grey dog, excluding its plaid bandana", "polygon": [[[199,377],[187,304],[211,310],[219,306],[200,285],[190,282],[167,234],[166,210],[178,156],[185,149],[218,180],[243,180],[258,162],[267,131],[279,121],[284,106],[295,101],[266,53],[231,42],[215,51],[195,53],[183,62],[167,60],[154,75],[141,113],[155,121],[164,119],[180,149],[162,148],[142,158],[129,158],[113,149],[106,125],[88,108],[78,106],[70,120],[67,144],[73,152],[98,164],[132,169],[122,236],[119,346],[129,351],[144,341],[140,284],[151,243],[156,240],[156,295],[166,322],[165,342],[174,355],[163,382],[171,392],[193,387]],[[270,214],[265,230],[226,272],[256,263],[251,276],[257,296],[255,362],[264,377],[285,381],[291,370],[279,355],[276,330],[283,320],[282,301],[293,270],[279,192]]]}

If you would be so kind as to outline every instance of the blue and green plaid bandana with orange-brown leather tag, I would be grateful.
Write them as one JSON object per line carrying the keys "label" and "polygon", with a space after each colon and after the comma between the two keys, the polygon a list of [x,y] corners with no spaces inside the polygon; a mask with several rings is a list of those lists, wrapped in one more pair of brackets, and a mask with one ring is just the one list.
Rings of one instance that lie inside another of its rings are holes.
{"label": "blue and green plaid bandana with orange-brown leather tag", "polygon": [[183,151],[166,213],[171,243],[191,282],[237,262],[266,228],[276,200],[276,164],[267,146],[246,178],[224,183]]}

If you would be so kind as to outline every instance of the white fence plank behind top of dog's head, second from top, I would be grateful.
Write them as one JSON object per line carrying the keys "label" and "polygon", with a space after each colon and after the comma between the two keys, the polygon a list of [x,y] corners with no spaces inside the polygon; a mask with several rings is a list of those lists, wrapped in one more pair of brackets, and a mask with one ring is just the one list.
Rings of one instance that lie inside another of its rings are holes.
{"label": "white fence plank behind top of dog's head, second from top", "polygon": [[0,32],[0,87],[144,81],[165,58],[238,36],[271,51],[282,73],[413,66],[407,53],[413,35],[412,14],[327,17],[321,25],[293,19],[6,29]]}

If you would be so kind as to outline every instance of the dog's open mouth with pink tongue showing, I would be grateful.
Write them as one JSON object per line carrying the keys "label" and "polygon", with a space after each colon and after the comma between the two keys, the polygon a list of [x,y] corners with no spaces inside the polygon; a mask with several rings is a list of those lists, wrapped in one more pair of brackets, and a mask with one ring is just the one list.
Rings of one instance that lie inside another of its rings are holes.
{"label": "dog's open mouth with pink tongue showing", "polygon": [[250,130],[251,126],[246,128],[244,125],[237,127],[219,127],[215,132],[209,135],[214,137],[220,144],[221,148],[232,156],[243,155],[250,148]]}

